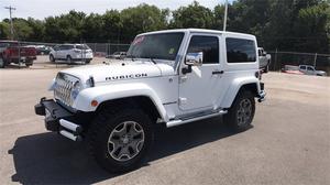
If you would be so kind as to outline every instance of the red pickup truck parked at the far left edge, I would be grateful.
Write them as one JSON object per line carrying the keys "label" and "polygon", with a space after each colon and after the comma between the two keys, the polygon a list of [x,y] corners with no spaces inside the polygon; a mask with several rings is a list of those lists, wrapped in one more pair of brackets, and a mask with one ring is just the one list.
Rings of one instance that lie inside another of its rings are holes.
{"label": "red pickup truck parked at the far left edge", "polygon": [[10,63],[24,63],[28,67],[36,59],[35,47],[22,46],[18,41],[0,40],[0,68]]}

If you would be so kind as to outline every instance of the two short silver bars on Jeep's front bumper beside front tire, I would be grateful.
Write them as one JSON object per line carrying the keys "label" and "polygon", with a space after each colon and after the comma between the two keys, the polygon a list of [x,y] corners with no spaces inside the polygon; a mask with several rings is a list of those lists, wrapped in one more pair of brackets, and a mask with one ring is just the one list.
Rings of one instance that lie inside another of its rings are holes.
{"label": "two short silver bars on Jeep's front bumper beside front tire", "polygon": [[70,122],[68,120],[65,120],[65,119],[61,119],[58,122],[59,122],[59,126],[72,131],[72,132],[69,132],[67,130],[61,130],[59,134],[73,140],[73,141],[81,141],[82,140],[82,138],[79,135],[79,133],[82,132],[82,128],[80,126],[78,126],[74,122]]}

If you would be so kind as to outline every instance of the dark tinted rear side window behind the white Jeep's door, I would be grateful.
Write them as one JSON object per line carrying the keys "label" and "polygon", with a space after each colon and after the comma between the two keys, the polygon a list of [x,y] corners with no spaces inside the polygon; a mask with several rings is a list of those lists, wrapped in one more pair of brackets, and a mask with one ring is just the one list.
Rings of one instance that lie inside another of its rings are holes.
{"label": "dark tinted rear side window behind the white Jeep's door", "polygon": [[252,40],[226,39],[228,63],[255,62],[255,44]]}

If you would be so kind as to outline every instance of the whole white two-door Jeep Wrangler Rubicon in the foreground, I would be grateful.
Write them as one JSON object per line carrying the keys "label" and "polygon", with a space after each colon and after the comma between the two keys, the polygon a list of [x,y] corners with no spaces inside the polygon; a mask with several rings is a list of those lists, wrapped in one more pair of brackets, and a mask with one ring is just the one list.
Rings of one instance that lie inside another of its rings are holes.
{"label": "whole white two-door Jeep Wrangler Rubicon in the foreground", "polygon": [[86,140],[110,172],[138,167],[167,127],[223,115],[243,131],[255,98],[264,100],[255,36],[212,30],[168,30],[135,37],[125,59],[62,70],[35,113],[50,131]]}

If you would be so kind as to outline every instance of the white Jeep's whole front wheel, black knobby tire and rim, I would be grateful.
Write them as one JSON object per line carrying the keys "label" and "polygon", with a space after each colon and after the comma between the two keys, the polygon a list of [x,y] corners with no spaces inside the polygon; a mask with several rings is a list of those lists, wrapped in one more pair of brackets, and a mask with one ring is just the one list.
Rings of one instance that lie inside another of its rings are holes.
{"label": "white Jeep's whole front wheel, black knobby tire and rim", "polygon": [[98,164],[120,173],[139,167],[153,140],[152,122],[140,109],[105,110],[89,130],[89,149]]}

